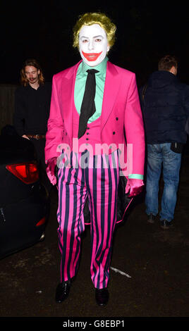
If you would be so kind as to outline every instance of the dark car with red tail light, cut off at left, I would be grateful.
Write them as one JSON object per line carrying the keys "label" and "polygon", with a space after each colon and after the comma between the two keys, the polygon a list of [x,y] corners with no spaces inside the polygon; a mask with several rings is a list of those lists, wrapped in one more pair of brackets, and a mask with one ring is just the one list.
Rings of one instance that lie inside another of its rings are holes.
{"label": "dark car with red tail light, cut off at left", "polygon": [[42,240],[49,216],[34,147],[10,132],[0,135],[0,258]]}

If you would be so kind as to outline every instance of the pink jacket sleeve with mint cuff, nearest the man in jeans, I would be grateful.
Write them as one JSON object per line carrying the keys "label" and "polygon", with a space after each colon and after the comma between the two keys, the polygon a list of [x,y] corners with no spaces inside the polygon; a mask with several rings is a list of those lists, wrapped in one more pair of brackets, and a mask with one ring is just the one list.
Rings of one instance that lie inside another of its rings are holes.
{"label": "pink jacket sleeve with mint cuff, nearest the man in jeans", "polygon": [[143,179],[145,165],[145,131],[135,74],[131,78],[125,112],[128,178]]}

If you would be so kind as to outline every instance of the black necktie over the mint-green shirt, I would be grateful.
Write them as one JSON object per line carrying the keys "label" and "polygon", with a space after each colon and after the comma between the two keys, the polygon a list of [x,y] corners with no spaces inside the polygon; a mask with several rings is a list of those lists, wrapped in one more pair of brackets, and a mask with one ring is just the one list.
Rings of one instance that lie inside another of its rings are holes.
{"label": "black necktie over the mint-green shirt", "polygon": [[88,119],[95,113],[96,108],[94,104],[94,96],[96,93],[96,80],[95,73],[98,73],[98,70],[90,69],[87,70],[87,80],[85,84],[85,92],[83,96],[82,105],[80,108],[80,120],[79,120],[79,130],[78,130],[78,139],[85,134],[87,130]]}

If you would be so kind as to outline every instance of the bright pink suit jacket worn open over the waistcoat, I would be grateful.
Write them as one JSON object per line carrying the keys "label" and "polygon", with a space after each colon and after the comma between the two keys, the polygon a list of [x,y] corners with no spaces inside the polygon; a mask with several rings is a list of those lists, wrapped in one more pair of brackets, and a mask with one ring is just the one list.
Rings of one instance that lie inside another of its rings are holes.
{"label": "bright pink suit jacket worn open over the waistcoat", "polygon": [[[57,151],[59,144],[68,144],[72,150],[74,87],[80,62],[53,77],[45,160],[60,155]],[[124,161],[127,167],[133,169],[133,174],[143,175],[145,134],[135,74],[109,61],[102,103],[101,143],[109,146],[124,144]],[[127,158],[126,143],[133,146],[132,157]],[[127,171],[124,174],[127,177]]]}

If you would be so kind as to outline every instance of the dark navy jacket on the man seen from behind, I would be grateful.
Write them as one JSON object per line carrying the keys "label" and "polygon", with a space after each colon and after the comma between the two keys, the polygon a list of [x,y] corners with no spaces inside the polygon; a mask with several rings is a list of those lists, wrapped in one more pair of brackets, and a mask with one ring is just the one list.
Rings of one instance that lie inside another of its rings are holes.
{"label": "dark navy jacket on the man seen from behind", "polygon": [[147,82],[144,101],[140,102],[147,144],[181,142],[187,135],[185,122],[189,115],[189,86],[169,71],[155,71]]}

